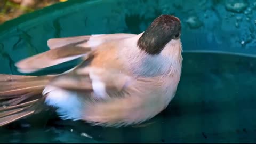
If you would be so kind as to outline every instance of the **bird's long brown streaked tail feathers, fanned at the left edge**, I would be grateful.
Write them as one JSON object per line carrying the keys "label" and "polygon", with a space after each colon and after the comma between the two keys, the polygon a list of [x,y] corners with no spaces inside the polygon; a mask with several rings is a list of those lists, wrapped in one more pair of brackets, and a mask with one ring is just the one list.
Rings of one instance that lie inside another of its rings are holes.
{"label": "bird's long brown streaked tail feathers, fanned at the left edge", "polygon": [[51,76],[0,75],[0,126],[42,110]]}

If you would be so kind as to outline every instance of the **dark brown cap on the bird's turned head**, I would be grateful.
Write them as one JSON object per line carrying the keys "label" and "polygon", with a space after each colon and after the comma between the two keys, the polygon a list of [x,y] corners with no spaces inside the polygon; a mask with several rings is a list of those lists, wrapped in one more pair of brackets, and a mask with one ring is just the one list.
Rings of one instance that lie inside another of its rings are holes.
{"label": "dark brown cap on the bird's turned head", "polygon": [[172,15],[157,17],[139,38],[137,45],[148,54],[159,54],[172,39],[179,39],[181,22]]}

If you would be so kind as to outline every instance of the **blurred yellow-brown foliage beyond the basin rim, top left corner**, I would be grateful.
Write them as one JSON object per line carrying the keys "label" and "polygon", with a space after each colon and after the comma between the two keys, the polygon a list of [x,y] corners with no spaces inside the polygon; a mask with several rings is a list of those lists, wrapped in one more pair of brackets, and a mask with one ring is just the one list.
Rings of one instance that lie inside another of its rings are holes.
{"label": "blurred yellow-brown foliage beyond the basin rim, top left corner", "polygon": [[43,7],[67,0],[1,0],[0,24]]}

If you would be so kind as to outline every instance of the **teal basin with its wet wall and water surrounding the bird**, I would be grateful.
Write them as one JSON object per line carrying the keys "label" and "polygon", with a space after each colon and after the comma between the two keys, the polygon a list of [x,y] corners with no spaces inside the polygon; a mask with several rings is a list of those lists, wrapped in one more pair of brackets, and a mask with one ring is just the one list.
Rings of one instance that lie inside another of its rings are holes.
{"label": "teal basin with its wet wall and water surrounding the bird", "polygon": [[[238,0],[72,0],[6,22],[0,26],[0,73],[4,74],[21,75],[14,63],[48,50],[49,38],[138,34],[159,14],[181,19],[184,61],[175,98],[142,126],[93,127],[61,121],[54,111],[45,111],[1,127],[0,142],[256,142],[255,5],[256,1]],[[76,62],[31,75],[62,72]]]}

